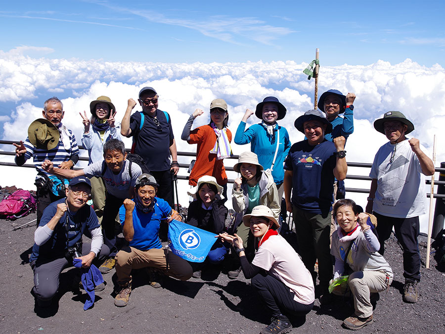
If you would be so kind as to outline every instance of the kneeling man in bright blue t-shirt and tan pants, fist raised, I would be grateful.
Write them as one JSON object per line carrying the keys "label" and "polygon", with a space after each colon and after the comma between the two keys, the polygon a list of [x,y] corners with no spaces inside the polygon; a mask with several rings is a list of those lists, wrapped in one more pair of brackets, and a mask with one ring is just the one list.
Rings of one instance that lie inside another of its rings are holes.
{"label": "kneeling man in bright blue t-shirt and tan pants, fist raised", "polygon": [[[178,280],[188,280],[193,272],[190,264],[162,248],[159,239],[161,219],[181,220],[181,216],[162,198],[156,197],[158,184],[153,176],[142,174],[136,180],[134,199],[125,199],[119,215],[128,247],[116,255],[119,289],[116,306],[127,306],[132,292],[132,269],[156,268]],[[168,265],[167,265],[168,264]]]}

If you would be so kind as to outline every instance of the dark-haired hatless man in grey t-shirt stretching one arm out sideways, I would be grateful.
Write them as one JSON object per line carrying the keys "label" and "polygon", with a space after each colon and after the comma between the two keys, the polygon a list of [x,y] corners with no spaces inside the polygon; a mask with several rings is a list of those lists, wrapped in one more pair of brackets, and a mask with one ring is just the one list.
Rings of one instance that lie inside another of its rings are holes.
{"label": "dark-haired hatless man in grey t-shirt stretching one arm out sideways", "polygon": [[49,174],[66,179],[78,176],[101,177],[107,190],[103,209],[102,231],[104,244],[110,249],[110,257],[99,267],[102,274],[110,272],[115,266],[117,253],[115,218],[119,207],[126,198],[133,198],[136,179],[142,174],[140,167],[127,160],[127,151],[122,141],[110,139],[103,145],[103,161],[97,161],[80,170],[63,170],[54,168],[49,160],[45,160],[42,168]]}

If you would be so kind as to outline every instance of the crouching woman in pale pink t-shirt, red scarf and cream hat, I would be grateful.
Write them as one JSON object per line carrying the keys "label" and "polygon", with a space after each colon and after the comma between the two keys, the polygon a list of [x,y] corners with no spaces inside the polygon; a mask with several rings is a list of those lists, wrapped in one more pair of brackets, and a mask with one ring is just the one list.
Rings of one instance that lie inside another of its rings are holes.
{"label": "crouching woman in pale pink t-shirt, red scarf and cream hat", "polygon": [[271,324],[260,333],[288,333],[292,325],[283,313],[301,317],[312,310],[315,298],[312,276],[294,248],[276,231],[279,224],[267,206],[255,206],[251,214],[244,215],[243,223],[259,239],[251,264],[238,235],[223,233],[220,237],[236,248],[245,278],[252,279],[252,286],[272,314]]}

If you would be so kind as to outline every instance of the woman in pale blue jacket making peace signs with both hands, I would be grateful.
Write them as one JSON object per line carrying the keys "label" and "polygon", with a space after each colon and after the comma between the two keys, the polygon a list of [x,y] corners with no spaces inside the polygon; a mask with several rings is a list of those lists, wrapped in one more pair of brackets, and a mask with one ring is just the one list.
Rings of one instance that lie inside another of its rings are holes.
{"label": "woman in pale blue jacket making peace signs with both hands", "polygon": [[[82,116],[84,123],[84,135],[82,136],[82,144],[88,150],[88,165],[96,161],[103,160],[103,145],[110,139],[121,139],[120,124],[115,123],[114,116],[116,108],[111,103],[108,96],[99,96],[89,103],[91,118],[88,119],[87,113],[84,111]],[[94,211],[102,225],[103,208],[105,206],[105,184],[102,178],[92,177],[91,181],[91,198],[93,200]]]}

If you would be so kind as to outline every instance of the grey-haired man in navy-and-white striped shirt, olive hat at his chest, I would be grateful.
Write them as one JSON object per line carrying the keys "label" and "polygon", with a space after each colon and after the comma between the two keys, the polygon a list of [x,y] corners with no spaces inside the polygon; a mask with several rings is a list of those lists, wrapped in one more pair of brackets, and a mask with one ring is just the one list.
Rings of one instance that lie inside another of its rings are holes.
{"label": "grey-haired man in navy-and-white striped shirt, olive hat at his chest", "polygon": [[37,186],[37,226],[44,209],[53,201],[65,197],[63,180],[49,175],[42,169],[42,163],[49,159],[61,169],[72,168],[79,160],[79,147],[71,130],[62,124],[64,116],[62,101],[57,97],[48,98],[42,111],[44,118],[31,123],[25,143],[14,143],[15,163],[22,166],[33,157],[38,171]]}

